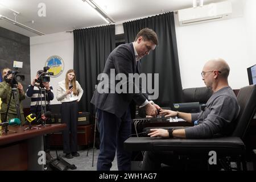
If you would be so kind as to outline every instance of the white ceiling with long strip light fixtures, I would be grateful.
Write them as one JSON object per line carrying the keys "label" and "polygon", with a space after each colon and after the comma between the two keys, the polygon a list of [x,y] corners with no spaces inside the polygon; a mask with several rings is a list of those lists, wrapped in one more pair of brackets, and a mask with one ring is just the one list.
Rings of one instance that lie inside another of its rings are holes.
{"label": "white ceiling with long strip light fixtures", "polygon": [[[204,4],[223,0],[204,0]],[[232,3],[241,2],[231,0]],[[246,0],[244,0],[246,1]],[[192,7],[193,0],[94,0],[115,22],[162,14],[168,11]],[[38,16],[39,3],[46,4],[46,17]],[[16,21],[44,34],[53,34],[92,26],[105,25],[105,21],[82,0],[0,0],[0,5],[18,11]],[[240,5],[237,5],[240,7]],[[14,19],[11,10],[0,6],[0,14]],[[34,20],[34,23],[32,23]],[[26,36],[37,36],[33,32],[16,27],[0,19],[0,27]]]}

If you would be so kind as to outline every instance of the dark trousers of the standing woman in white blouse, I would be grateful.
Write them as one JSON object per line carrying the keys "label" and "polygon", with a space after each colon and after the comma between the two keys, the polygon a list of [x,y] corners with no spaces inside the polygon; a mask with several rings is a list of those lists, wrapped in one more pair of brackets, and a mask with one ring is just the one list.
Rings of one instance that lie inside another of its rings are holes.
{"label": "dark trousers of the standing woman in white blouse", "polygon": [[[63,130],[63,153],[69,154],[77,152],[77,119],[78,103],[63,102],[61,104],[61,122],[67,124]],[[69,131],[71,132],[71,141],[69,140]]]}

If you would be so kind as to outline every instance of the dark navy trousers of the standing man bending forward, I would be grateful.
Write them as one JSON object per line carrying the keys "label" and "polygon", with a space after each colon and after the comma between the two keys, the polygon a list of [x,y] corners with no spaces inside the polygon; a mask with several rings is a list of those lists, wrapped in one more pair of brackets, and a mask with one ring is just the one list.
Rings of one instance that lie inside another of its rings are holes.
{"label": "dark navy trousers of the standing man bending forward", "polygon": [[130,171],[131,152],[123,149],[123,142],[131,135],[130,109],[118,118],[112,113],[97,109],[100,127],[100,154],[97,170],[109,171],[117,151],[117,166],[119,171]]}

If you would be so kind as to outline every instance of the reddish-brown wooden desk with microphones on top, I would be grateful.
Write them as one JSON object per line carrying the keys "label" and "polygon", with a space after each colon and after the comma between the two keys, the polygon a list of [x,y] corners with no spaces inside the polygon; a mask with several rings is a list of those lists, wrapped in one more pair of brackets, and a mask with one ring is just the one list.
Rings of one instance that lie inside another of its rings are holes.
{"label": "reddish-brown wooden desk with microphones on top", "polygon": [[43,170],[38,164],[39,151],[44,150],[43,135],[64,130],[65,124],[47,125],[40,129],[26,130],[27,126],[9,126],[7,134],[0,135],[0,170]]}

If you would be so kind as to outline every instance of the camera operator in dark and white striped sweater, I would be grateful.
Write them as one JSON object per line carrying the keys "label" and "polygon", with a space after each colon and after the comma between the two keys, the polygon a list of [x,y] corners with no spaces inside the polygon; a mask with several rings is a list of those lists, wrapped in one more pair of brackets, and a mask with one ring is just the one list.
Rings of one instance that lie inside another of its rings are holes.
{"label": "camera operator in dark and white striped sweater", "polygon": [[[31,81],[31,85],[28,85],[27,91],[26,91],[26,96],[31,98],[31,103],[30,103],[30,113],[34,113],[36,114],[36,120],[38,120],[39,118],[41,118],[42,113],[41,113],[41,99],[43,101],[43,104],[45,101],[46,97],[46,101],[48,102],[48,104],[46,104],[46,111],[50,111],[49,108],[49,102],[53,100],[54,98],[54,94],[52,92],[52,86],[49,85],[49,82],[41,82],[40,81],[40,75],[44,73],[43,70],[39,70],[36,73],[36,77]],[[46,88],[46,96],[44,95],[40,95],[40,88],[45,87]],[[49,135],[47,134],[45,136],[45,143],[46,146],[44,148],[44,150],[46,151],[46,159],[49,160],[52,158],[52,156],[50,155],[50,144],[49,144]]]}

